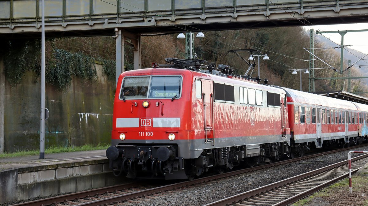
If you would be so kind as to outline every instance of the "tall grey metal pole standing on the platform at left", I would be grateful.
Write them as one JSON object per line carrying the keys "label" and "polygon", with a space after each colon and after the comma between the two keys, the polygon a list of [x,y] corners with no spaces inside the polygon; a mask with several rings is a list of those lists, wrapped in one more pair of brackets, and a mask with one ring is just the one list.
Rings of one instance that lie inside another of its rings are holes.
{"label": "tall grey metal pole standing on the platform at left", "polygon": [[42,0],[41,31],[41,126],[40,126],[40,159],[45,159],[45,0]]}

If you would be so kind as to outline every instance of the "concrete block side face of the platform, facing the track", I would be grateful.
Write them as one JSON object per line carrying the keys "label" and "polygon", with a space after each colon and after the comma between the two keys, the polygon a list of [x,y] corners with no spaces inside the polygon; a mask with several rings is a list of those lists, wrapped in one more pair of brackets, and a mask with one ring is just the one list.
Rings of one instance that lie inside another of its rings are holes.
{"label": "concrete block side face of the platform, facing the track", "polygon": [[112,174],[107,159],[1,171],[0,204],[101,188],[126,181]]}

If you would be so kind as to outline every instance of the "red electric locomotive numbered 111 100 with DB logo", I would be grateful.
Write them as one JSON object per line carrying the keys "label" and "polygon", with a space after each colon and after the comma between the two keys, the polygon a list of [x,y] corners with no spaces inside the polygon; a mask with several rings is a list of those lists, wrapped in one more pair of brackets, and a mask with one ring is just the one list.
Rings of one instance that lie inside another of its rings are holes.
{"label": "red electric locomotive numbered 111 100 with DB logo", "polygon": [[106,151],[116,173],[179,179],[290,156],[284,90],[232,76],[229,66],[219,73],[177,61],[186,69],[120,75]]}

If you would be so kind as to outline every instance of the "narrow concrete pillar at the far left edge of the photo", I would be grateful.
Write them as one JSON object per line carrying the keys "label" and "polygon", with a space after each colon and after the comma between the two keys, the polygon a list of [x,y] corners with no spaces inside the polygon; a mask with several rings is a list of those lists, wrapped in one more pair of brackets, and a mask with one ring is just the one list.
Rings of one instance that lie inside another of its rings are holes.
{"label": "narrow concrete pillar at the far left edge of the photo", "polygon": [[5,73],[4,61],[0,59],[0,154],[4,153],[4,104],[5,104]]}

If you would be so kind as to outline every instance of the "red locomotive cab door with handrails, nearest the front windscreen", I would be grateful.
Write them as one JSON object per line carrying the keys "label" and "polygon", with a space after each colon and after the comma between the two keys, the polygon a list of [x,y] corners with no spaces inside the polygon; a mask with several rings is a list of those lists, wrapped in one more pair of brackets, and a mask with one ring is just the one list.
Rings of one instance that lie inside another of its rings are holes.
{"label": "red locomotive cab door with handrails, nearest the front windscreen", "polygon": [[202,81],[202,100],[203,100],[203,127],[205,131],[205,143],[213,142],[215,145],[215,134],[213,130],[213,89],[212,81],[204,80]]}

